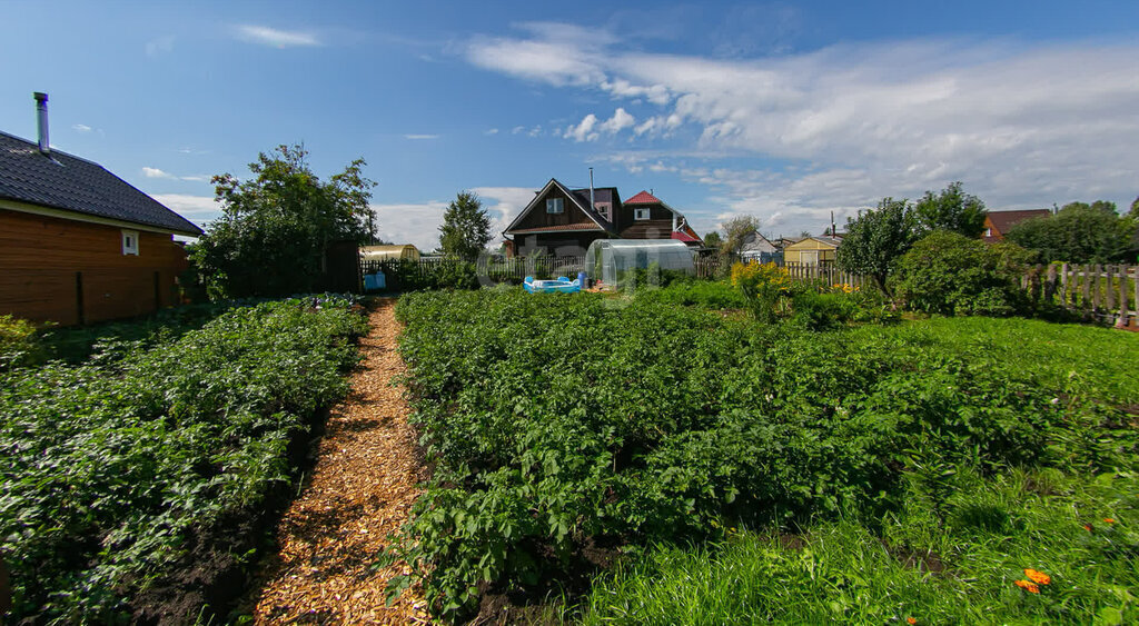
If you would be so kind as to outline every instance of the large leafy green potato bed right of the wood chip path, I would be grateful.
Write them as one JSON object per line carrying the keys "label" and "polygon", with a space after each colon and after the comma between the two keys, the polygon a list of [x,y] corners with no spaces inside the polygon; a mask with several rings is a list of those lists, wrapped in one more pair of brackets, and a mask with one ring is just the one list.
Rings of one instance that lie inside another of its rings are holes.
{"label": "large leafy green potato bed right of the wood chip path", "polygon": [[1101,430],[1125,421],[1124,400],[1010,366],[983,343],[907,327],[820,335],[661,294],[400,300],[435,468],[403,555],[435,611],[461,615],[481,585],[557,577],[587,545],[888,510],[928,463],[1100,471],[1133,459],[1133,431]]}

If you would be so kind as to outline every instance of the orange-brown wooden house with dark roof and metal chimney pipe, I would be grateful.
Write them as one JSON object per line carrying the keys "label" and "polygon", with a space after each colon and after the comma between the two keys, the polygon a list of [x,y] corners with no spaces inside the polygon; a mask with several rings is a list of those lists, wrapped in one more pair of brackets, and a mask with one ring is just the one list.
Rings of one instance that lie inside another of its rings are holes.
{"label": "orange-brown wooden house with dark roof and metal chimney pipe", "polygon": [[[42,97],[42,98],[41,98]],[[178,304],[202,230],[97,163],[0,132],[0,315],[87,323]]]}

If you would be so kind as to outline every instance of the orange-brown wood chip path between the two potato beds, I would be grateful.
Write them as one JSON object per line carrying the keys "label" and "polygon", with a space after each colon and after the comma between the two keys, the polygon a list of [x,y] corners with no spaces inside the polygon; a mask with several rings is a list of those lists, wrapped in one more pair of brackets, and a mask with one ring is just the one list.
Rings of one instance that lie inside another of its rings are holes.
{"label": "orange-brown wood chip path between the two potato beds", "polygon": [[251,599],[257,624],[428,621],[416,588],[385,606],[387,582],[405,565],[371,569],[388,534],[408,519],[423,470],[403,388],[390,385],[403,372],[394,306],[380,300],[370,313],[352,392],[333,409],[312,478],[281,519],[279,553],[267,559],[260,594]]}

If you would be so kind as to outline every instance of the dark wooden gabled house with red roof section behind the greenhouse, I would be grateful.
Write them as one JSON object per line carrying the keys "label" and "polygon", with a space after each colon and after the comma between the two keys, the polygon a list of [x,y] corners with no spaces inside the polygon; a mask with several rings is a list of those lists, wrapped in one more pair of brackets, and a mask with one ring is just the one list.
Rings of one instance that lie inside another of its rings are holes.
{"label": "dark wooden gabled house with red roof section behind the greenhouse", "polygon": [[625,201],[615,187],[570,189],[550,179],[507,225],[507,253],[585,254],[598,239],[677,239],[702,245],[685,216],[648,191]]}

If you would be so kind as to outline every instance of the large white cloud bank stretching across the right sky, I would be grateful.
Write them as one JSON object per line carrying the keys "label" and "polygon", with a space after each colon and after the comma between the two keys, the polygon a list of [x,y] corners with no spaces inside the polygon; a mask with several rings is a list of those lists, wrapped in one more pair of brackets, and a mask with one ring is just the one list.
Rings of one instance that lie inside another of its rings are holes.
{"label": "large white cloud bank stretching across the right sky", "polygon": [[[852,213],[954,180],[991,208],[1130,203],[1139,192],[1131,42],[893,41],[723,60],[625,50],[572,25],[525,28],[522,38],[475,39],[467,59],[626,101],[639,124],[618,108],[624,115],[590,114],[560,134],[626,133],[634,148],[657,148],[623,155],[631,171],[662,160],[683,168],[695,153],[729,163],[687,176],[713,192],[706,228],[722,212],[751,212],[772,228],[821,230],[831,209]],[[681,130],[693,139],[662,154]]]}

